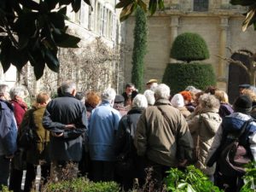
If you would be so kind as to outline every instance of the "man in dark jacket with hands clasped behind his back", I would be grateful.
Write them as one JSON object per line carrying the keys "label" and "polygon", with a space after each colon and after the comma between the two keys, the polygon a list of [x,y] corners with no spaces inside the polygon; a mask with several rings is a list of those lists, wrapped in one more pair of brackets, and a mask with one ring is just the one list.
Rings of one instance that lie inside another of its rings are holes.
{"label": "man in dark jacket with hands clasped behind his back", "polygon": [[[53,162],[56,180],[61,177],[61,168],[82,157],[82,143],[86,131],[87,118],[84,104],[75,98],[76,84],[67,81],[61,84],[63,96],[57,97],[47,105],[43,125],[51,132],[49,139],[49,157]],[[52,175],[53,176],[53,175]]]}

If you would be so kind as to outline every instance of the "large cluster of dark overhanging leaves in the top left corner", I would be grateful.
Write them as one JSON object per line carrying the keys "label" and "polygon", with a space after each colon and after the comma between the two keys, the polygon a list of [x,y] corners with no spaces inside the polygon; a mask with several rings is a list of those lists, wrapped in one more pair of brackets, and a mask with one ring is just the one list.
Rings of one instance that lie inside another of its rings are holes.
{"label": "large cluster of dark overhanging leaves in the top left corner", "polygon": [[[84,2],[90,5],[90,0]],[[45,64],[59,71],[58,48],[77,48],[80,41],[67,33],[69,4],[78,12],[81,0],[0,1],[0,61],[4,72],[10,64],[20,71],[27,61],[37,79],[44,74]]]}

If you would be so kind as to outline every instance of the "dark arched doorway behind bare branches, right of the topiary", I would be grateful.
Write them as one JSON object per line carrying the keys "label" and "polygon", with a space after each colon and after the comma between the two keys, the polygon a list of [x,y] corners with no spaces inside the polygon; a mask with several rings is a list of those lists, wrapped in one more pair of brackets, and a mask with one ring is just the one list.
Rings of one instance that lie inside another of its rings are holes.
{"label": "dark arched doorway behind bare branches, right of the topiary", "polygon": [[[235,53],[231,55],[231,59],[235,61],[241,61],[247,67],[249,67],[249,59],[248,57],[253,55],[253,53],[246,49],[240,49],[239,53]],[[245,55],[243,55],[243,53]],[[228,95],[230,99],[230,103],[232,104],[236,97],[239,96],[239,84],[250,84],[249,76],[247,75],[244,68],[239,67],[236,64],[230,63],[229,66],[229,84],[228,84]]]}

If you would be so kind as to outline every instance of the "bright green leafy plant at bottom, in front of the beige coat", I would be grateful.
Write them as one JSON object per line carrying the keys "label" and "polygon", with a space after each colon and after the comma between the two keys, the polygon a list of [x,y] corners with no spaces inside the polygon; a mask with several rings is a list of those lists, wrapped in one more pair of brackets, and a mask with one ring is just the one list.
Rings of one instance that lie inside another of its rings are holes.
{"label": "bright green leafy plant at bottom, in front of the beige coat", "polygon": [[195,166],[187,166],[184,172],[171,168],[166,177],[166,187],[173,192],[218,192],[218,187]]}

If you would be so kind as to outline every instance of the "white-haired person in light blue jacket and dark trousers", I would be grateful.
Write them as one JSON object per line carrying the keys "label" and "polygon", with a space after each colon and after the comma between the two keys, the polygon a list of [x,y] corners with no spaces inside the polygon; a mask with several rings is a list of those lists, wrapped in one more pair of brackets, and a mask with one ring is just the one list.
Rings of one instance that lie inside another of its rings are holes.
{"label": "white-haired person in light blue jacket and dark trousers", "polygon": [[113,108],[115,90],[102,92],[102,103],[90,115],[89,151],[94,182],[113,180],[114,132],[118,130],[121,115]]}

